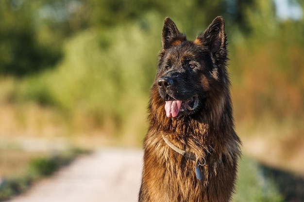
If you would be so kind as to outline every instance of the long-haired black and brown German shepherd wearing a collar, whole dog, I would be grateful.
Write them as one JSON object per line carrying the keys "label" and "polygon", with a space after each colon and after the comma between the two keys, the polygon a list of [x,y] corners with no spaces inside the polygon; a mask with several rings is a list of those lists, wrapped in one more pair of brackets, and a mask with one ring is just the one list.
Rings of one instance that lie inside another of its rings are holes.
{"label": "long-haired black and brown German shepherd wearing a collar, whole dog", "polygon": [[149,102],[139,202],[229,202],[241,142],[234,130],[224,20],[194,41],[167,17]]}

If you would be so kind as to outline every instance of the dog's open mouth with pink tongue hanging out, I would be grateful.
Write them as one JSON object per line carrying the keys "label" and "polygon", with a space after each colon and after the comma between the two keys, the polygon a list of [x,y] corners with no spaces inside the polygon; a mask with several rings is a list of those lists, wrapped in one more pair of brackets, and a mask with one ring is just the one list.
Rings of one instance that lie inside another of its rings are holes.
{"label": "dog's open mouth with pink tongue hanging out", "polygon": [[167,117],[176,117],[178,114],[189,114],[199,105],[199,96],[194,95],[182,101],[168,96],[166,99],[165,110]]}

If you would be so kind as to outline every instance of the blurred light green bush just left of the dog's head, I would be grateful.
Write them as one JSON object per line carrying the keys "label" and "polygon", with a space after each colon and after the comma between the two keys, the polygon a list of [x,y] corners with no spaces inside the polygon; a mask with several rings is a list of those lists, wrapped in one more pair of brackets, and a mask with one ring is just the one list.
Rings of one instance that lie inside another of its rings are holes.
{"label": "blurred light green bush just left of the dog's head", "polygon": [[134,130],[144,134],[162,21],[147,14],[106,32],[91,29],[75,35],[64,46],[65,59],[52,71],[23,79],[14,99],[60,109],[69,121],[86,117],[95,126],[110,121],[117,132],[139,116],[141,126]]}

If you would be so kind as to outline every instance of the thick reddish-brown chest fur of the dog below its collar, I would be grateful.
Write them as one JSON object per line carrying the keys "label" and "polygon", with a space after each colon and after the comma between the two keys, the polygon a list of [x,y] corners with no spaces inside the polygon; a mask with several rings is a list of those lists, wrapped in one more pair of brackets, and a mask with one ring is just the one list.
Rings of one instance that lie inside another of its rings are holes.
{"label": "thick reddish-brown chest fur of the dog below its collar", "polygon": [[[203,179],[198,180],[195,161],[172,150],[158,131],[148,132],[145,139],[141,202],[228,202],[234,187],[238,146],[233,142],[225,149],[206,150],[206,145],[187,141],[188,145],[172,140],[186,151],[203,158],[200,167]],[[232,151],[228,151],[229,148]],[[229,159],[230,158],[230,159]],[[229,172],[227,172],[229,171]]]}

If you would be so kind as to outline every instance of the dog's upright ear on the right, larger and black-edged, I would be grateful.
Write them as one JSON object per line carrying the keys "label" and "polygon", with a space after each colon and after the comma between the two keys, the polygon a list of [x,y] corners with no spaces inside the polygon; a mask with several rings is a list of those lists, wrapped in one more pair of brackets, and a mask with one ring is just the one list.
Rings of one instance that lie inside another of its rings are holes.
{"label": "dog's upright ear on the right, larger and black-edged", "polygon": [[224,19],[222,16],[218,16],[212,21],[203,34],[197,36],[195,42],[202,43],[204,46],[208,47],[212,53],[226,50],[227,39],[224,28]]}

